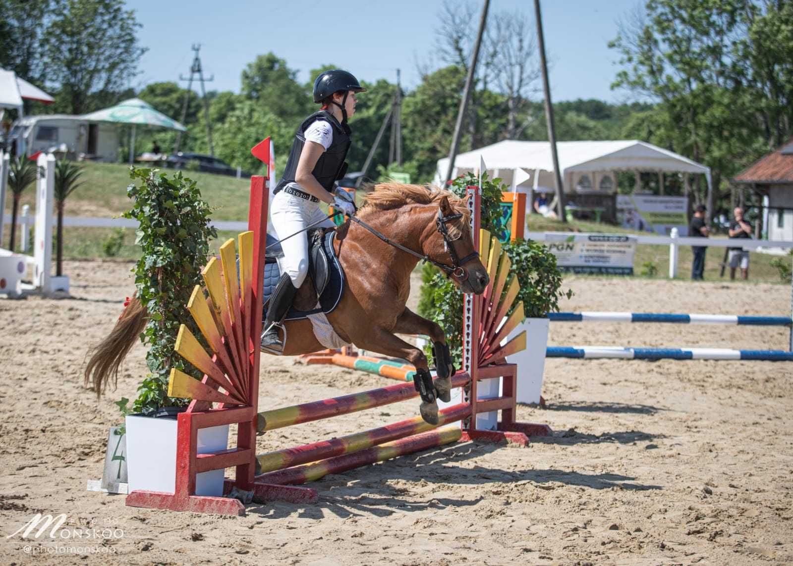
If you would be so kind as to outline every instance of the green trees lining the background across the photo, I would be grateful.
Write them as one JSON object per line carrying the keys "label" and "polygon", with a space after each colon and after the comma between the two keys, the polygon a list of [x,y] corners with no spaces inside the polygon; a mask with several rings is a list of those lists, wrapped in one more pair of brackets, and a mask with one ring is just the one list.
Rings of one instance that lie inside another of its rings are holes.
{"label": "green trees lining the background across the photo", "polygon": [[[386,131],[371,177],[401,170],[429,181],[437,159],[448,154],[478,10],[473,2],[442,6],[433,58],[417,63],[419,84],[401,92],[403,164],[389,166]],[[86,113],[138,96],[178,119],[187,97],[190,132],[181,149],[207,152],[197,94],[177,82],[155,82],[137,92],[127,87],[144,53],[136,40],[139,27],[133,10],[111,0],[0,0],[0,66],[47,86],[56,97],[51,106],[31,105],[33,113]],[[507,139],[547,139],[533,27],[526,13],[496,11],[488,19],[461,151]],[[58,48],[63,45],[75,48]],[[558,140],[645,140],[705,163],[713,170],[714,211],[730,205],[734,174],[791,136],[791,2],[648,0],[626,14],[610,46],[619,56],[613,88],[630,102],[557,102]],[[384,79],[365,86],[351,120],[351,171],[362,168],[397,93],[395,82]],[[311,82],[298,80],[286,59],[258,55],[244,66],[239,92],[208,93],[215,154],[256,172],[260,164],[249,150],[271,136],[282,167],[295,128],[316,109],[310,93]],[[139,130],[138,140],[139,150],[156,141],[168,152],[175,133]],[[704,195],[702,185],[695,187],[695,200]]]}

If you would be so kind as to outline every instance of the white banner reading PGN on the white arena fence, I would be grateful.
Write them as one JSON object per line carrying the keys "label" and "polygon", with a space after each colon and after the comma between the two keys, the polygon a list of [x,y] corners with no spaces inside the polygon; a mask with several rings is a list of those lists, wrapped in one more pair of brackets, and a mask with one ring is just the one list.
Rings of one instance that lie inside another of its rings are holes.
{"label": "white banner reading PGN on the white arena fence", "polygon": [[637,236],[546,233],[545,244],[562,271],[633,275]]}

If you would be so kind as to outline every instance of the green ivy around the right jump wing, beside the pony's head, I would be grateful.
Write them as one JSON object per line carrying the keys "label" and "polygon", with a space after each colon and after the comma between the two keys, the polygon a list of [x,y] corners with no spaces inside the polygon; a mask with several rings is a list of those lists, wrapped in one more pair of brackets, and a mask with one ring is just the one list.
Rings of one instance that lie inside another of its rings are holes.
{"label": "green ivy around the right jump wing, beside the pony's head", "polygon": [[[478,185],[476,176],[469,173],[454,180],[449,189],[465,198],[469,185]],[[498,231],[501,215],[501,193],[507,189],[500,178],[482,176],[481,227],[492,234]],[[557,267],[556,256],[542,243],[519,240],[502,244],[511,261],[510,276],[518,277],[519,292],[515,304],[523,301],[523,312],[528,317],[542,318],[559,310],[559,299],[573,296],[573,291],[562,292],[563,278]],[[419,315],[435,320],[446,334],[454,365],[462,367],[462,300],[463,293],[435,266],[424,264],[421,273]],[[504,291],[506,293],[506,291]],[[511,310],[514,308],[510,308]],[[429,349],[430,346],[427,346]]]}

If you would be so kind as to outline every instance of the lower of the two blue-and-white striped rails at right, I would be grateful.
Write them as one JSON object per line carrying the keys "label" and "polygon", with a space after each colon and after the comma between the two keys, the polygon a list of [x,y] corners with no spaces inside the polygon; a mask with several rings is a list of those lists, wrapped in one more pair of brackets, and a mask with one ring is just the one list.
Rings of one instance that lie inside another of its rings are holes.
{"label": "lower of the two blue-and-white striped rails at right", "polygon": [[549,346],[546,358],[615,358],[622,360],[763,360],[793,361],[784,350],[731,350],[729,348],[621,348],[619,346]]}

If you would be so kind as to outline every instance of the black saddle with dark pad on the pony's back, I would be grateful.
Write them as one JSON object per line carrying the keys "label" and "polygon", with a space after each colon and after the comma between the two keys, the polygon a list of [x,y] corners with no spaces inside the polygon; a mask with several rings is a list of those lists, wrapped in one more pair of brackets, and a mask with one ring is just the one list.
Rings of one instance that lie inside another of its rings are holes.
{"label": "black saddle with dark pad on the pony's back", "polygon": [[[344,270],[333,249],[335,235],[335,230],[325,233],[325,228],[308,231],[308,276],[300,289],[297,289],[292,308],[286,313],[284,320],[305,319],[308,315],[320,312],[327,314],[339,304],[344,292],[345,278]],[[278,259],[284,257],[284,252],[281,244],[276,242],[274,236],[267,234],[262,316],[266,316],[270,296],[281,277]]]}

